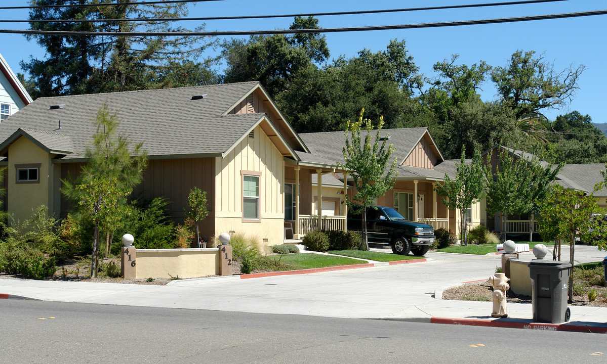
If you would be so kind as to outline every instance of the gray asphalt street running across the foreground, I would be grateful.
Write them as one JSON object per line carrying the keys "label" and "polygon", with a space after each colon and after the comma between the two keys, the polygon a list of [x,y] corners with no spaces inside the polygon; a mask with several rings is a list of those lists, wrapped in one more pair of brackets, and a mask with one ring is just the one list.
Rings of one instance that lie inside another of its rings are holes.
{"label": "gray asphalt street running across the foreground", "polygon": [[598,334],[2,301],[3,363],[600,363],[607,352]]}

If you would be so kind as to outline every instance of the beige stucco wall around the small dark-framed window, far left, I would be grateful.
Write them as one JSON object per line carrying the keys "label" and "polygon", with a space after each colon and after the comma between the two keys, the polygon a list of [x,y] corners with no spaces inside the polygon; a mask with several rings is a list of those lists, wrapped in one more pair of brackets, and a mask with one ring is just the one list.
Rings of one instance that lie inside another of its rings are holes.
{"label": "beige stucco wall around the small dark-framed window, far left", "polygon": [[[26,137],[20,137],[8,147],[8,204],[7,210],[16,221],[23,222],[32,216],[32,209],[45,205],[53,211],[53,179],[55,168],[51,154],[46,153]],[[40,164],[38,183],[17,184],[15,165]]]}

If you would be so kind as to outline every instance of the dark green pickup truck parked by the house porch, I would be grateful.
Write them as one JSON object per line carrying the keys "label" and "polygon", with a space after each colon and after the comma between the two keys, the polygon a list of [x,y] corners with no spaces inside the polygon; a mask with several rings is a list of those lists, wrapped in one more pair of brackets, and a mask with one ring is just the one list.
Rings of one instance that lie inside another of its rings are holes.
{"label": "dark green pickup truck parked by the house porch", "polygon": [[[348,212],[348,230],[362,231],[362,215]],[[374,243],[390,244],[395,254],[415,254],[422,256],[434,243],[434,228],[426,223],[405,219],[390,207],[376,206],[367,210],[368,240]]]}

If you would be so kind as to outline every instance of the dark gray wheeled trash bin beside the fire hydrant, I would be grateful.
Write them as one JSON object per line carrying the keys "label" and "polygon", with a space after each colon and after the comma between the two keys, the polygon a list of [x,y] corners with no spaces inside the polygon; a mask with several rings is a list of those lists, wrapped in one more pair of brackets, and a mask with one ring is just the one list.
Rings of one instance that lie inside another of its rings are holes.
{"label": "dark gray wheeled trash bin beside the fire hydrant", "polygon": [[571,263],[535,259],[529,263],[534,322],[562,323],[571,316],[567,307]]}

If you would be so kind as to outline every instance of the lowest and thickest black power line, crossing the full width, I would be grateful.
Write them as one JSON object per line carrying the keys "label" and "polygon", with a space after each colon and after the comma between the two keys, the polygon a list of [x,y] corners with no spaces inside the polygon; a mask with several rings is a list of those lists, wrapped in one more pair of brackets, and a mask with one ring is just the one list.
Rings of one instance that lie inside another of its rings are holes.
{"label": "lowest and thickest black power line, crossing the full width", "polygon": [[547,15],[515,16],[512,18],[495,18],[480,20],[464,20],[449,22],[432,22],[401,25],[372,25],[369,27],[341,27],[317,29],[279,29],[279,30],[237,30],[237,31],[55,31],[55,30],[15,30],[0,29],[0,33],[35,34],[35,35],[90,35],[90,36],[245,36],[301,33],[341,33],[347,31],[396,30],[416,28],[458,27],[461,25],[500,24],[508,22],[523,22],[548,19],[577,18],[580,16],[607,15],[607,10],[591,10],[588,12],[559,13]]}

